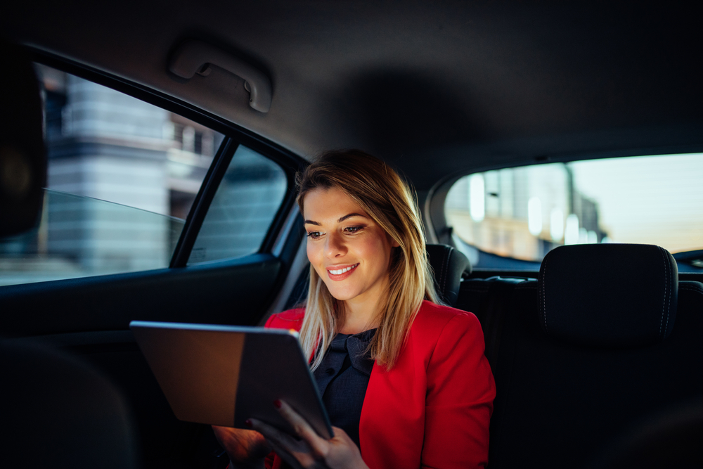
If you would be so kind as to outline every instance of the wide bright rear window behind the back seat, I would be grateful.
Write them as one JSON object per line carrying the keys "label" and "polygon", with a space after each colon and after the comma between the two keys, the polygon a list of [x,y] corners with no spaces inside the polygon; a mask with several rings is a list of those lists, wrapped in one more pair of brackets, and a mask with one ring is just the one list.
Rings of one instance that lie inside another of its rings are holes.
{"label": "wide bright rear window behind the back seat", "polygon": [[703,154],[499,169],[458,179],[445,214],[477,266],[489,266],[481,252],[539,262],[579,243],[655,244],[678,258],[703,249],[701,181]]}

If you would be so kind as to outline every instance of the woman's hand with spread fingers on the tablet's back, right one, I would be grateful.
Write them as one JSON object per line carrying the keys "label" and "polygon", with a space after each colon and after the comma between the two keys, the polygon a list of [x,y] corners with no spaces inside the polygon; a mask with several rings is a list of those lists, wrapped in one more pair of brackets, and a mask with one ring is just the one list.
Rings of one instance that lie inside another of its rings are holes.
{"label": "woman's hand with spread fingers on the tablet's back, right one", "polygon": [[332,439],[324,439],[288,404],[276,401],[276,406],[300,439],[295,439],[261,420],[252,418],[250,422],[252,428],[261,432],[273,451],[288,464],[297,469],[368,469],[361,459],[359,448],[344,430],[335,427],[335,436]]}

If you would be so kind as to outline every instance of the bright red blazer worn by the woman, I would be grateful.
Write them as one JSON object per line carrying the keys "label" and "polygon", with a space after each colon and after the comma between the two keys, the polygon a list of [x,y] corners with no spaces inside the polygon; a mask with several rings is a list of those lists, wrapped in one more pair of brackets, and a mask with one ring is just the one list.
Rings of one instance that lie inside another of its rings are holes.
{"label": "bright red blazer worn by the woman", "polygon": [[[266,327],[300,330],[304,313],[274,314]],[[392,370],[373,365],[361,457],[370,469],[485,466],[495,396],[476,316],[425,301]],[[279,466],[276,456],[272,467]]]}

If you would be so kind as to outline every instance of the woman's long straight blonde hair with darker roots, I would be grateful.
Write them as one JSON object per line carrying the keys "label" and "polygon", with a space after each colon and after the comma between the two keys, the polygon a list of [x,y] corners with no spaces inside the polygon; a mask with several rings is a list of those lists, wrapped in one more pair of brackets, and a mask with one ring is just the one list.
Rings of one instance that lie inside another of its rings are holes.
{"label": "woman's long straight blonde hair with darker roots", "polygon": [[[368,352],[378,364],[394,366],[408,330],[426,298],[439,303],[427,253],[425,234],[413,191],[391,167],[361,150],[337,150],[321,155],[297,176],[297,203],[304,213],[305,195],[317,188],[346,193],[393,240],[389,289],[378,329]],[[344,324],[344,307],[310,266],[310,283],[300,342],[311,368],[317,368],[332,339]],[[316,353],[317,352],[317,353]]]}

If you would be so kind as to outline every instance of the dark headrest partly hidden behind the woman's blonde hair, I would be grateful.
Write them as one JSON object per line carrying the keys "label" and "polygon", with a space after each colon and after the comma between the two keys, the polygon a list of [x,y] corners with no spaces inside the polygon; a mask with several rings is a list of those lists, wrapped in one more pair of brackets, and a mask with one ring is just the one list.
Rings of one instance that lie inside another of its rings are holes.
{"label": "dark headrest partly hidden behind the woman's blonde hair", "polygon": [[471,273],[471,264],[458,250],[446,244],[428,244],[427,259],[434,272],[434,288],[442,301],[450,306],[459,296],[461,275]]}

